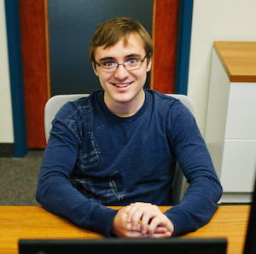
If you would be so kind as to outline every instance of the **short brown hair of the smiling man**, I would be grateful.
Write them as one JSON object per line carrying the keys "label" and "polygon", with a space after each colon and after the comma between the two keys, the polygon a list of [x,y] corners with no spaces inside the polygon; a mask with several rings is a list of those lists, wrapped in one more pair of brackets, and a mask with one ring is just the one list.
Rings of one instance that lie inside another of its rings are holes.
{"label": "short brown hair of the smiling man", "polygon": [[106,49],[113,46],[121,38],[124,38],[126,45],[132,32],[137,33],[142,39],[146,55],[148,55],[149,59],[153,54],[153,43],[146,29],[134,18],[120,17],[105,21],[96,28],[88,49],[90,62],[95,62],[94,55],[97,47],[105,45],[104,49]]}

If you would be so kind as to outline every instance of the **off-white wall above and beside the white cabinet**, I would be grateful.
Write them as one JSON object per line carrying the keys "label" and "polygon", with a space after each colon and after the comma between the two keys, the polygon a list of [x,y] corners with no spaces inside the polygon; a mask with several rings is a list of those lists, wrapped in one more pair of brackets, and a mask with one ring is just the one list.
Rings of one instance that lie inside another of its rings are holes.
{"label": "off-white wall above and beside the white cabinet", "polygon": [[205,134],[214,41],[256,42],[255,0],[194,0],[188,95]]}

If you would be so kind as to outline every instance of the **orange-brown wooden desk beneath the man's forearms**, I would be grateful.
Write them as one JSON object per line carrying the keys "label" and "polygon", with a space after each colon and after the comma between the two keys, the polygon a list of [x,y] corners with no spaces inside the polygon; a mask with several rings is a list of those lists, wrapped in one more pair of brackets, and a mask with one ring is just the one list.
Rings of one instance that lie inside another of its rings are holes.
{"label": "orange-brown wooden desk beneath the man's forearms", "polygon": [[[118,207],[115,207],[118,209]],[[161,207],[166,211],[167,207]],[[228,239],[228,253],[242,253],[247,231],[249,205],[220,206],[211,222],[184,238]],[[19,239],[96,239],[102,238],[50,214],[39,206],[0,206],[0,253],[18,253]]]}

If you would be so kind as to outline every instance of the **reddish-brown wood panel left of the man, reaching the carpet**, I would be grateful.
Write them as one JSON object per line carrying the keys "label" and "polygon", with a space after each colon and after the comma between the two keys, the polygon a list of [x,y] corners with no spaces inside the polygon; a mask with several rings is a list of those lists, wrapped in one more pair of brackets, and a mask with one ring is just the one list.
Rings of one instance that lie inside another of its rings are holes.
{"label": "reddish-brown wood panel left of the man, reaching the carpet", "polygon": [[20,0],[20,35],[28,148],[45,147],[47,96],[44,0]]}

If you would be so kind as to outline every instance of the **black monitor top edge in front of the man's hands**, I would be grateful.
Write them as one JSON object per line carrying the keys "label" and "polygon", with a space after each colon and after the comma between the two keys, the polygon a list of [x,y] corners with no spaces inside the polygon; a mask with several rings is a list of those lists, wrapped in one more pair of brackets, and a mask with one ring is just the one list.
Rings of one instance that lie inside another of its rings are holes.
{"label": "black monitor top edge in front of the man's hands", "polygon": [[20,254],[142,253],[225,254],[226,239],[20,240]]}

